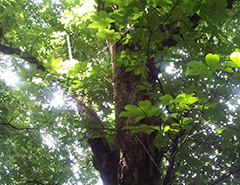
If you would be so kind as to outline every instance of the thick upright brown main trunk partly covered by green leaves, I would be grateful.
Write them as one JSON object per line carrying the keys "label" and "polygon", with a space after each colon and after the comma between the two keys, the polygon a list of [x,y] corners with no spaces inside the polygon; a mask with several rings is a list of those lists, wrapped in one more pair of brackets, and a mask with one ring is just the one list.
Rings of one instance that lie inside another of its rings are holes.
{"label": "thick upright brown main trunk partly covered by green leaves", "polygon": [[[145,133],[132,134],[129,130],[121,130],[124,126],[136,125],[134,118],[119,117],[127,104],[137,105],[139,101],[149,99],[137,85],[141,84],[141,75],[132,71],[125,72],[124,66],[114,66],[114,98],[116,114],[116,144],[119,151],[120,166],[119,182],[121,185],[159,184],[159,163],[161,157],[154,146],[155,133],[150,136]],[[149,79],[149,81],[151,81]],[[155,120],[148,118],[138,124],[156,125]]]}

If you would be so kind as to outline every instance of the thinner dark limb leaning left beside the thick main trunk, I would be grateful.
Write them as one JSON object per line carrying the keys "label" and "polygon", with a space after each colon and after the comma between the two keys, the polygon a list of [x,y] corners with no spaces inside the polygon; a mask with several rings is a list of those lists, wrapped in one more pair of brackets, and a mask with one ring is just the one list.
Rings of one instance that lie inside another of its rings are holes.
{"label": "thinner dark limb leaning left beside the thick main trunk", "polygon": [[100,172],[104,185],[118,184],[117,153],[116,150],[111,150],[103,136],[104,133],[99,129],[99,127],[103,127],[101,120],[91,105],[84,103],[82,100],[77,100],[76,103],[79,114],[84,115],[88,121],[87,137],[89,137],[88,144],[91,146],[94,155],[94,167]]}

